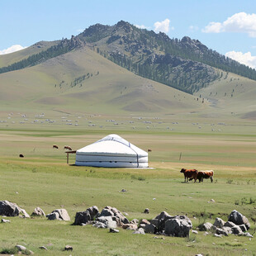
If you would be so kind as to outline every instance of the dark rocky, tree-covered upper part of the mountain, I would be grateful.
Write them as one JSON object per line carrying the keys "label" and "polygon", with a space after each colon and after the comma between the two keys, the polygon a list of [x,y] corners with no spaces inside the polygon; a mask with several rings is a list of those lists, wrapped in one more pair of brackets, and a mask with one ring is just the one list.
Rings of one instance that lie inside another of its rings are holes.
{"label": "dark rocky, tree-covered upper part of the mountain", "polygon": [[2,67],[0,73],[40,64],[83,45],[133,73],[191,94],[222,78],[224,71],[256,80],[254,69],[208,49],[199,40],[187,36],[170,39],[162,32],[156,34],[126,21],[114,26],[89,26],[70,40],[61,40],[36,55]]}

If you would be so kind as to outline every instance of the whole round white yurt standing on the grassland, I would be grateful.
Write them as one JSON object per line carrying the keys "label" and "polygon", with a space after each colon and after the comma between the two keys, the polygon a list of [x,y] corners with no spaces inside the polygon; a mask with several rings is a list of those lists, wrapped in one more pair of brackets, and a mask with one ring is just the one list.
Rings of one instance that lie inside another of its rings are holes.
{"label": "whole round white yurt standing on the grassland", "polygon": [[148,153],[118,135],[107,135],[102,140],[76,152],[76,165],[95,167],[147,168]]}

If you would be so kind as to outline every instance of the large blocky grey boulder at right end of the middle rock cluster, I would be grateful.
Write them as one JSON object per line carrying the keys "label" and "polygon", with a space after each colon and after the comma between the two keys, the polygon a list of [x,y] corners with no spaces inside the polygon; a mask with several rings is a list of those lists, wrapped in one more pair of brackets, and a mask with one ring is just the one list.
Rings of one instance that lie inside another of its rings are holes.
{"label": "large blocky grey boulder at right end of the middle rock cluster", "polygon": [[165,222],[164,234],[187,237],[189,236],[189,230],[192,229],[192,222],[187,216],[175,216],[172,219],[168,219]]}

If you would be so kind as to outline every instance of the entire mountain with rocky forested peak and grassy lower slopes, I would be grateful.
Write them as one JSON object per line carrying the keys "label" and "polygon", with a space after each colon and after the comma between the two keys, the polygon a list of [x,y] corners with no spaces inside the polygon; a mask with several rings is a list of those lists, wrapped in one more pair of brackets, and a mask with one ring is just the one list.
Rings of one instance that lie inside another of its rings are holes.
{"label": "entire mountain with rocky forested peak and grassy lower slopes", "polygon": [[223,110],[255,118],[255,73],[199,40],[120,21],[1,55],[0,103],[2,110],[205,116]]}

